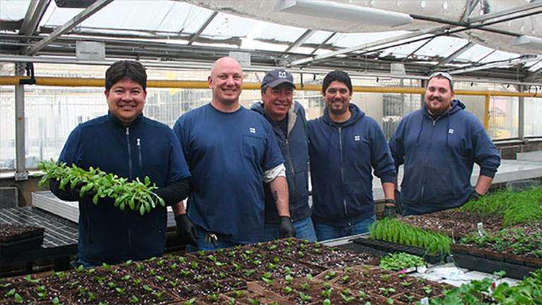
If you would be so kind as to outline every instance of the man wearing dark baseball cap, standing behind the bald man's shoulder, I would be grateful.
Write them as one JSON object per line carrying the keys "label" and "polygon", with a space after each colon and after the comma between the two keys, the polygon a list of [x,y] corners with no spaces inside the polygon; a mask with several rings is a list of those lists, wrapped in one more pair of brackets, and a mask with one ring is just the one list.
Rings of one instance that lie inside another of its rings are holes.
{"label": "man wearing dark baseball cap, standing behind the bald man's shoulder", "polygon": [[[316,241],[308,206],[308,145],[305,109],[293,102],[294,77],[282,68],[270,71],[261,84],[262,101],[251,109],[270,122],[284,157],[289,189],[289,210],[296,237]],[[279,238],[279,217],[270,188],[265,191],[265,239]],[[286,221],[286,220],[284,220]]]}

